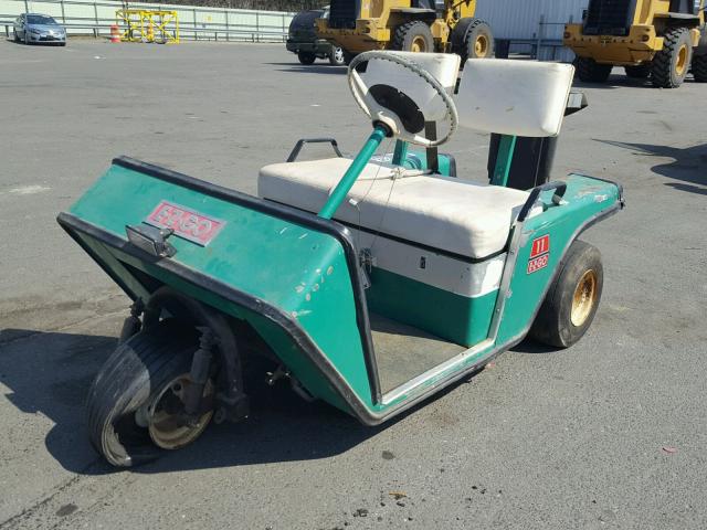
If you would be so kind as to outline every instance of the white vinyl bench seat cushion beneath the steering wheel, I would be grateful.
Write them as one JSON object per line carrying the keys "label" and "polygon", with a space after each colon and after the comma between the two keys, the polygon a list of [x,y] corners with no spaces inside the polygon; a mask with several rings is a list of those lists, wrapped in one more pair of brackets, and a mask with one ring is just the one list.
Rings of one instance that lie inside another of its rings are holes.
{"label": "white vinyl bench seat cushion beneath the steering wheel", "polygon": [[[257,191],[268,199],[318,212],[351,160],[275,163],[261,169]],[[525,191],[453,178],[392,179],[390,167],[368,163],[335,214],[354,227],[472,258],[500,252]],[[392,187],[392,189],[391,189]]]}

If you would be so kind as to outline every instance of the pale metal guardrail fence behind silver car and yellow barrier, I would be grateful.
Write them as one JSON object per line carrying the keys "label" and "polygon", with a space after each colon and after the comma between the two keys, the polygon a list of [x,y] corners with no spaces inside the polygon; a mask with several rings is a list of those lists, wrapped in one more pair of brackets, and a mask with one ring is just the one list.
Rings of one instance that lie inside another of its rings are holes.
{"label": "pale metal guardrail fence behind silver car and yellow barrier", "polygon": [[[18,2],[21,4],[21,1]],[[4,26],[6,36],[11,36],[14,20],[21,12],[40,11],[34,4],[59,4],[61,14],[54,14],[54,19],[66,28],[70,35],[72,34],[93,34],[95,38],[108,36],[110,34],[110,25],[118,21],[115,17],[98,17],[98,8],[109,8],[112,10],[120,9],[119,3],[107,2],[85,2],[73,0],[32,0],[32,9],[28,8],[28,2],[20,12],[12,14],[0,13],[0,28]],[[81,6],[84,8],[93,8],[93,17],[75,17],[67,15],[66,8],[70,6]],[[165,4],[151,6],[139,4],[144,9],[165,9]],[[254,19],[254,23],[232,22],[234,18],[243,19],[244,17],[236,10],[230,9],[200,9],[193,6],[175,6],[179,10],[179,31],[181,39],[191,39],[196,41],[234,41],[234,42],[285,42],[287,40],[287,30],[289,21],[295,13],[288,12],[258,12],[249,11],[249,17]],[[171,7],[170,7],[171,9]],[[189,17],[191,15],[191,17]],[[219,15],[222,22],[208,22],[203,18],[212,18]],[[279,19],[278,23],[262,23],[263,19]],[[191,19],[191,20],[190,20]],[[201,20],[200,20],[201,19]],[[72,31],[74,30],[74,31]],[[1,30],[0,30],[1,31]]]}

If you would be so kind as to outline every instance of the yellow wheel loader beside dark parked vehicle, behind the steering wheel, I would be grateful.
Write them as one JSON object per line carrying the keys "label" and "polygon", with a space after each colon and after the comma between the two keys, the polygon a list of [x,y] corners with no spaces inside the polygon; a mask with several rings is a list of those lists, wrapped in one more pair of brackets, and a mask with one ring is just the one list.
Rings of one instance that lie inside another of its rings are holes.
{"label": "yellow wheel loader beside dark parked vehicle, behind the steering wheel", "polygon": [[347,63],[370,50],[451,52],[490,57],[490,26],[474,18],[476,0],[331,0],[317,34],[345,50]]}

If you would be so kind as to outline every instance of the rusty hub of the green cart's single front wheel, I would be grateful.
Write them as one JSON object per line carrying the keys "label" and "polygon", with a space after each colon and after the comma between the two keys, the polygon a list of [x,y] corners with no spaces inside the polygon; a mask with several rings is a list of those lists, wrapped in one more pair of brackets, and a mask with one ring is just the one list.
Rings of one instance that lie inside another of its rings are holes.
{"label": "rusty hub of the green cart's single front wheel", "polygon": [[[163,449],[178,449],[197,439],[209,425],[213,411],[204,412],[196,422],[186,425],[180,413],[183,412],[184,388],[191,384],[188,373],[172,379],[157,398],[148,405],[147,420],[150,438]],[[203,400],[212,400],[213,382],[207,381]]]}

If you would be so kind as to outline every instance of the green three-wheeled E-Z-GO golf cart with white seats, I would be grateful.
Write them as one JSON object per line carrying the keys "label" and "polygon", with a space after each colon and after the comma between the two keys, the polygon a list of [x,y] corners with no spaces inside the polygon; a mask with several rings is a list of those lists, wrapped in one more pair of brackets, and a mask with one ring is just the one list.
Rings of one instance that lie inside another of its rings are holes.
{"label": "green three-wheeled E-Z-GO golf cart with white seats", "polygon": [[[110,464],[246,418],[257,384],[376,425],[528,333],[560,348],[584,335],[603,271],[578,236],[622,208],[621,187],[505,186],[517,138],[559,134],[573,68],[468,61],[454,95],[458,67],[453,54],[358,55],[349,86],[373,128],[360,152],[293,152],[261,170],[257,198],[122,157],[59,215],[134,300],[87,398]],[[500,135],[490,184],[442,174],[436,158],[401,163],[463,127]],[[386,138],[390,161],[373,158]],[[245,377],[255,360],[272,368]]]}

